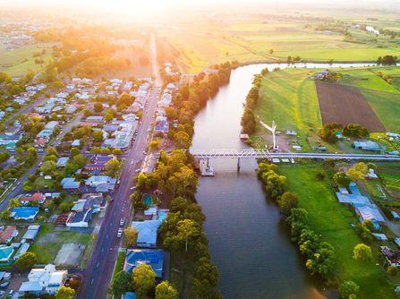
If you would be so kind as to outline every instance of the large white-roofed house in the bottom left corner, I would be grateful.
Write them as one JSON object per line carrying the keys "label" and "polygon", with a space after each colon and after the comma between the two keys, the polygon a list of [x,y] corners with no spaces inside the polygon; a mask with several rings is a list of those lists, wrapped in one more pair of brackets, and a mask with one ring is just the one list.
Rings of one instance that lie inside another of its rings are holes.
{"label": "large white-roofed house in the bottom left corner", "polygon": [[31,295],[55,295],[60,286],[64,286],[67,270],[56,270],[48,264],[44,269],[31,269],[28,281],[22,282],[19,293]]}

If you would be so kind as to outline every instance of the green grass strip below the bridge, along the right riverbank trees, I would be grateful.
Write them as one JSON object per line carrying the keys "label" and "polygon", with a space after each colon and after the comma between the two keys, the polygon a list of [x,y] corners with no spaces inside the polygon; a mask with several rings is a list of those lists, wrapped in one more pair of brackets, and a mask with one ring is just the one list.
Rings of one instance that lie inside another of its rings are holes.
{"label": "green grass strip below the bridge, along the right riverbank trees", "polygon": [[299,206],[308,210],[311,228],[336,248],[336,278],[356,282],[360,286],[361,298],[393,298],[395,286],[390,284],[381,269],[377,248],[373,247],[374,261],[362,263],[353,260],[353,247],[362,240],[350,224],[358,220],[336,201],[328,175],[324,181],[316,179],[319,171],[325,171],[320,164],[279,167],[279,172],[287,177],[289,190],[299,194]]}

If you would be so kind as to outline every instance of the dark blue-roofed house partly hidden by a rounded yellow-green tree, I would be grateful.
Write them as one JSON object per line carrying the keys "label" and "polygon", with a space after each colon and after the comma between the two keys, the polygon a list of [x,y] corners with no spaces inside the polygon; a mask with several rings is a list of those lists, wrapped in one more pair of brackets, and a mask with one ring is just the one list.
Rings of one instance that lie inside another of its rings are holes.
{"label": "dark blue-roofed house partly hidden by a rounded yellow-green tree", "polygon": [[128,249],[123,270],[132,273],[140,264],[147,264],[156,273],[156,278],[164,276],[164,251],[161,249]]}

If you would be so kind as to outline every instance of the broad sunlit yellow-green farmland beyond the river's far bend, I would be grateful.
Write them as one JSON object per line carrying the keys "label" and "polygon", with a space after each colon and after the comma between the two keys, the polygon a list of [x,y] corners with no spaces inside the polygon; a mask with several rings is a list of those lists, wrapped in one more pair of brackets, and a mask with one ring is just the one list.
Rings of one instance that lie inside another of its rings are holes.
{"label": "broad sunlit yellow-green farmland beyond the river's far bend", "polygon": [[[321,26],[332,26],[327,25],[324,13],[328,12],[317,13],[322,14],[320,19],[311,17],[312,12],[296,15],[268,10],[265,15],[221,13],[212,16],[199,13],[190,21],[180,19],[174,26],[159,28],[157,33],[174,47],[176,60],[187,73],[197,73],[209,64],[226,60],[273,62],[300,56],[302,60],[316,62],[372,62],[379,56],[398,56],[400,49],[396,38],[376,37],[353,28],[353,15],[341,16],[350,36],[345,37],[335,30],[318,30]],[[387,17],[390,19],[376,21],[374,25],[396,28],[396,22],[389,21],[393,16],[385,15]]]}

